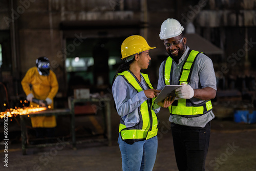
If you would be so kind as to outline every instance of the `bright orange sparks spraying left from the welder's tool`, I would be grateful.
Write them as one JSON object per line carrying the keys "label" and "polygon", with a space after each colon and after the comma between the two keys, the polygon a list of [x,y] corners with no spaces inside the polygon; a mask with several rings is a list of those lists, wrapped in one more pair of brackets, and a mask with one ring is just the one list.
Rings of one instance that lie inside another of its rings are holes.
{"label": "bright orange sparks spraying left from the welder's tool", "polygon": [[17,115],[27,115],[34,112],[44,111],[47,108],[16,108],[16,109],[7,109],[5,112],[0,113],[1,119],[4,117],[16,117]]}

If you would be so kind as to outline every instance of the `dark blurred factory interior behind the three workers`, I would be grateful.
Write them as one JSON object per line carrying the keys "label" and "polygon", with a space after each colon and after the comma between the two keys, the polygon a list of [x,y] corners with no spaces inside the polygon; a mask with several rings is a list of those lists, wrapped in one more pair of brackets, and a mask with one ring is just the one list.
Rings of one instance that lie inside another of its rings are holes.
{"label": "dark blurred factory interior behind the three workers", "polygon": [[[255,0],[2,0],[0,18],[1,170],[122,170],[112,92],[124,63],[120,48],[132,35],[156,47],[141,72],[157,89],[169,56],[159,38],[167,18],[179,21],[186,46],[207,55],[214,68],[205,170],[256,170]],[[39,57],[49,59],[58,88],[32,106],[23,81]],[[41,103],[48,100],[54,103]],[[37,137],[35,115],[56,118],[52,138]],[[179,170],[169,111],[161,108],[157,116],[153,170]]]}

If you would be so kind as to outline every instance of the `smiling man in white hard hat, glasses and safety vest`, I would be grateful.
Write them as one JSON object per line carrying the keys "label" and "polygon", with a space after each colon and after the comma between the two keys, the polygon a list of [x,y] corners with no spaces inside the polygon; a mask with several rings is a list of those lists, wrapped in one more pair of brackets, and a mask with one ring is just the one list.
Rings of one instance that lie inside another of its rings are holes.
{"label": "smiling man in white hard hat, glasses and safety vest", "polygon": [[180,171],[199,171],[205,170],[210,121],[215,117],[210,100],[216,96],[216,77],[211,59],[189,49],[183,31],[173,18],[161,25],[159,37],[169,57],[159,68],[157,89],[183,85],[175,90],[175,101],[169,106],[175,157]]}

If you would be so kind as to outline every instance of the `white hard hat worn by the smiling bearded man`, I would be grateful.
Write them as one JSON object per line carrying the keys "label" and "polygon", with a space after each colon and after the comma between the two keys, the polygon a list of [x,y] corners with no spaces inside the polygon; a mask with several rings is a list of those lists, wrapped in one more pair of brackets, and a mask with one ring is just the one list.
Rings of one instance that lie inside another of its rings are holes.
{"label": "white hard hat worn by the smiling bearded man", "polygon": [[178,20],[174,18],[168,18],[164,20],[161,25],[161,31],[159,37],[161,40],[172,38],[180,35],[184,28],[180,25]]}

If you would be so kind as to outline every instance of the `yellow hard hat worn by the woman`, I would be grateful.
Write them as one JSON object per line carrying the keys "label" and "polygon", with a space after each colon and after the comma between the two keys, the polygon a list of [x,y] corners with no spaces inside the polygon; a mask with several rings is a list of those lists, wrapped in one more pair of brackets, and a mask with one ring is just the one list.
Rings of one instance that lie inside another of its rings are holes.
{"label": "yellow hard hat worn by the woman", "polygon": [[144,37],[140,35],[129,36],[123,41],[121,45],[122,59],[154,48],[156,47],[148,46]]}

